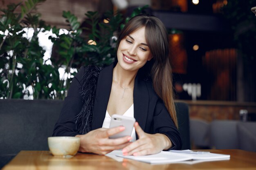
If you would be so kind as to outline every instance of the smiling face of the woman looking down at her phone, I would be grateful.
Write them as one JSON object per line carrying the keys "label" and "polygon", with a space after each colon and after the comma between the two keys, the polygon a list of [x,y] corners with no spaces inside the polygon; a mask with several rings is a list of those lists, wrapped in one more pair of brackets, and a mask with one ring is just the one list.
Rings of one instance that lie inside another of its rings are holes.
{"label": "smiling face of the woman looking down at her phone", "polygon": [[138,71],[151,58],[152,55],[146,44],[145,26],[121,40],[117,50],[117,59],[123,69]]}

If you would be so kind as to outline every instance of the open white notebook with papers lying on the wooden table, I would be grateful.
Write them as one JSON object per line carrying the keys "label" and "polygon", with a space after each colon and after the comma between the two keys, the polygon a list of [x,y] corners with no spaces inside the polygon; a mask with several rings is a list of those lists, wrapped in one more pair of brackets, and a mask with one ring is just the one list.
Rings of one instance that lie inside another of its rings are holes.
{"label": "open white notebook with papers lying on the wooden table", "polygon": [[[229,160],[230,155],[207,153],[207,154],[189,154],[189,153],[175,153],[169,151],[161,151],[154,155],[146,156],[124,156],[122,154],[117,154],[117,157],[123,157],[126,159],[132,159],[135,161],[141,161],[151,164],[161,164],[161,163],[186,163],[183,161],[189,160],[205,160],[205,161],[220,161]],[[201,161],[200,161],[201,162]]]}

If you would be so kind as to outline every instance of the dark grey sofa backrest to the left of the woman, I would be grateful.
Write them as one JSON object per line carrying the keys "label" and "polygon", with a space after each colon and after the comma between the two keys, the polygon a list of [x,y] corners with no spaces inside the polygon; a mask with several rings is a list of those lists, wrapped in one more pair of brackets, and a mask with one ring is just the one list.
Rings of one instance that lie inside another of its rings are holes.
{"label": "dark grey sofa backrest to the left of the woman", "polygon": [[0,168],[20,150],[49,150],[62,100],[0,99]]}

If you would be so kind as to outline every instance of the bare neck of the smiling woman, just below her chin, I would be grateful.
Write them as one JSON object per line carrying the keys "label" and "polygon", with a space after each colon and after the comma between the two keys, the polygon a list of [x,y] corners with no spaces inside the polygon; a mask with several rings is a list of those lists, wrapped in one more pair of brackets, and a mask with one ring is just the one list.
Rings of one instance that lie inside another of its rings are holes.
{"label": "bare neck of the smiling woman, just below her chin", "polygon": [[137,71],[126,71],[123,68],[121,68],[118,64],[115,66],[113,70],[113,79],[115,78],[115,81],[125,88],[134,86],[136,75]]}

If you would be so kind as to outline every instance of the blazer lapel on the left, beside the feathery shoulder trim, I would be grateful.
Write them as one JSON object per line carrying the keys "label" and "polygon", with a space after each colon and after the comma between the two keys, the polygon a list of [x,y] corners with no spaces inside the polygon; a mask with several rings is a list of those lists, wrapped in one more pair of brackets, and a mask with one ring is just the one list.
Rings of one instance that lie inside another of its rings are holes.
{"label": "blazer lapel on the left, beside the feathery shoulder trim", "polygon": [[105,119],[113,77],[113,64],[103,68],[99,74],[94,102],[92,130],[101,128]]}

